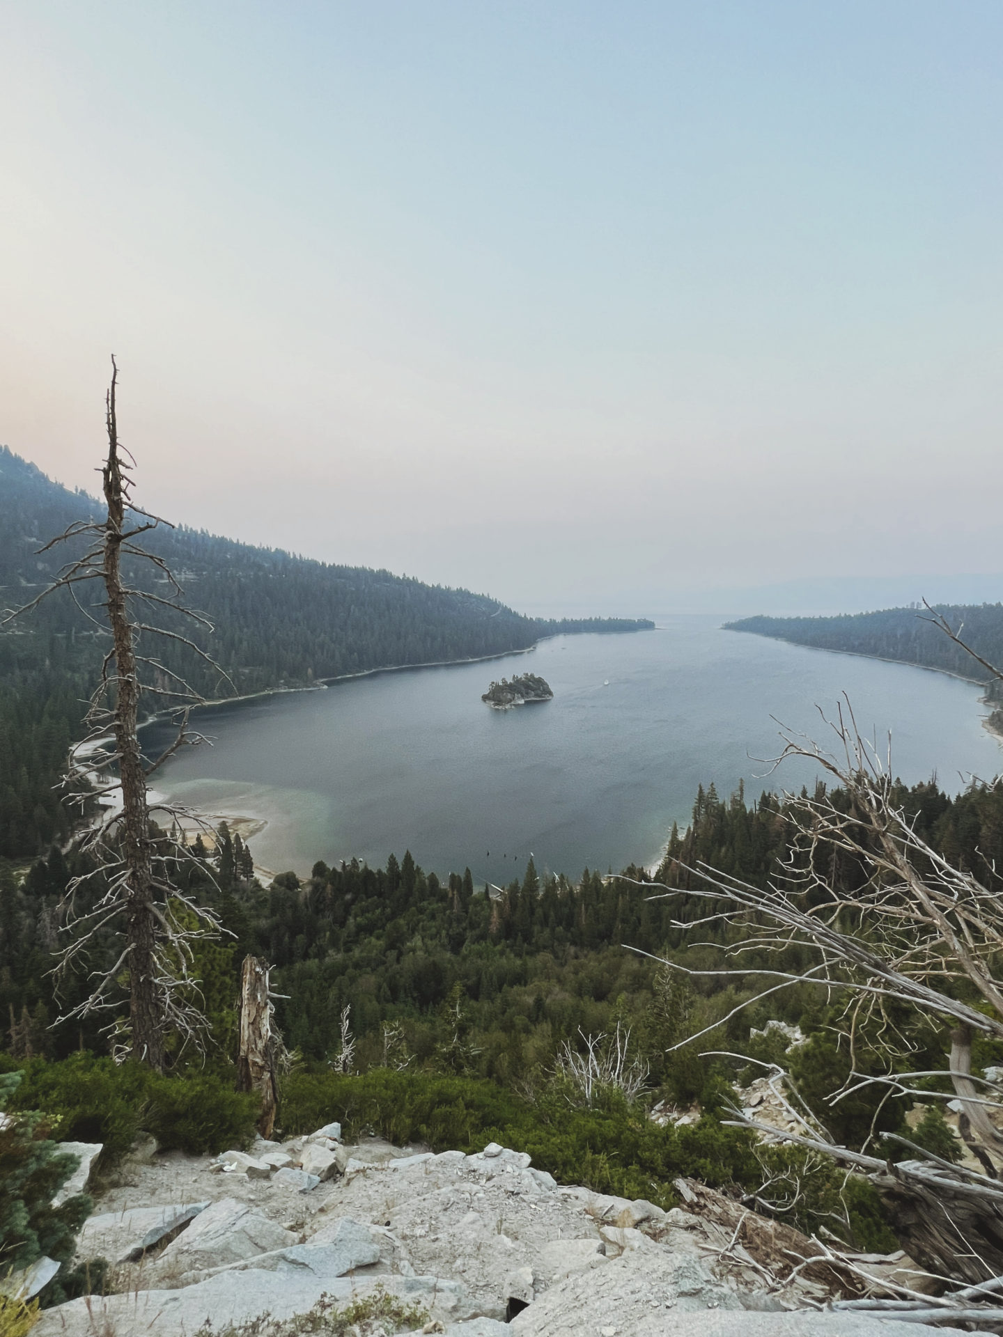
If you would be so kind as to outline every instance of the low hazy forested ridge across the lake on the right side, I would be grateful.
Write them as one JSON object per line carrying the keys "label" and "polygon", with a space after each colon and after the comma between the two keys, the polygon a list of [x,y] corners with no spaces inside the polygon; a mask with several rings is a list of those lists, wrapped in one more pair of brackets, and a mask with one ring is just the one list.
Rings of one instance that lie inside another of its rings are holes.
{"label": "low hazy forested ridge across the lake on the right side", "polygon": [[[940,614],[983,659],[1003,667],[1003,603],[936,604]],[[742,618],[726,622],[729,631],[792,640],[817,650],[843,650],[879,659],[897,659],[924,668],[941,668],[984,682],[998,707],[994,722],[1003,727],[1003,683],[956,646],[929,620],[924,607],[885,608],[881,612],[843,614],[839,618]]]}

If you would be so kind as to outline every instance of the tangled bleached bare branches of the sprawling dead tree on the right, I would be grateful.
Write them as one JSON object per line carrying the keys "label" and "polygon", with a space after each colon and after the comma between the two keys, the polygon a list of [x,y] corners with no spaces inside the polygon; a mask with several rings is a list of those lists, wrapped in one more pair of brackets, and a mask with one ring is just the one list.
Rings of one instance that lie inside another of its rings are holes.
{"label": "tangled bleached bare branches of the sprawling dead tree on the right", "polygon": [[[929,612],[959,646],[971,648],[935,610]],[[757,979],[754,995],[729,1016],[794,985],[816,985],[841,1000],[840,1028],[851,1055],[867,1032],[872,1048],[884,1054],[887,1071],[861,1072],[853,1064],[843,1088],[832,1092],[832,1106],[868,1087],[887,1096],[956,1103],[959,1131],[980,1171],[893,1134],[887,1142],[912,1152],[911,1159],[893,1163],[888,1154],[868,1154],[867,1147],[837,1146],[810,1111],[796,1107],[793,1088],[784,1103],[800,1122],[796,1134],[738,1108],[729,1122],[826,1157],[876,1185],[905,1247],[951,1292],[944,1301],[931,1302],[903,1290],[903,1298],[887,1302],[896,1312],[916,1317],[931,1304],[945,1304],[959,1321],[974,1306],[980,1318],[999,1321],[1003,1312],[984,1306],[995,1304],[1003,1290],[1003,1096],[999,1087],[971,1072],[974,1035],[1003,1039],[998,870],[988,862],[978,870],[956,868],[923,838],[901,805],[891,758],[883,759],[863,738],[848,701],[826,723],[834,733],[834,754],[805,734],[781,730],[784,749],[774,765],[789,757],[809,759],[830,783],[817,786],[814,796],[786,796],[785,814],[794,832],[778,876],[760,888],[698,864],[689,869],[701,884],[698,892],[661,888],[662,897],[699,894],[718,906],[701,923],[729,925],[725,951],[730,963],[722,969],[691,969],[681,961],[663,965],[685,976]],[[860,874],[851,890],[840,876],[848,864]],[[681,917],[675,927],[693,925]],[[792,947],[812,964],[784,969],[782,953]],[[776,968],[742,964],[753,952],[761,960],[764,951],[774,956]],[[911,1071],[903,1004],[907,1016],[925,1017],[950,1036],[943,1068]],[[681,1043],[691,1044],[718,1025],[721,1020]],[[786,1076],[772,1067],[776,1078]],[[954,1289],[958,1282],[964,1288]],[[875,1302],[875,1308],[884,1304]]]}

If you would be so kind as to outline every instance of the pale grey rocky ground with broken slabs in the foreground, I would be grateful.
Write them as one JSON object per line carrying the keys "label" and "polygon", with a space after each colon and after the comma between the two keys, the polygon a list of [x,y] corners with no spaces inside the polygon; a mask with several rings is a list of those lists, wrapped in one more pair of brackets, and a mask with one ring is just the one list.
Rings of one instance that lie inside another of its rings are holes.
{"label": "pale grey rocky ground with broken slabs in the foreground", "polygon": [[432,1155],[340,1131],[217,1159],[138,1147],[80,1234],[112,1293],[47,1310],[36,1337],[958,1333],[833,1312],[923,1278],[903,1255],[825,1257],[691,1181],[666,1213],[560,1187],[493,1143]]}

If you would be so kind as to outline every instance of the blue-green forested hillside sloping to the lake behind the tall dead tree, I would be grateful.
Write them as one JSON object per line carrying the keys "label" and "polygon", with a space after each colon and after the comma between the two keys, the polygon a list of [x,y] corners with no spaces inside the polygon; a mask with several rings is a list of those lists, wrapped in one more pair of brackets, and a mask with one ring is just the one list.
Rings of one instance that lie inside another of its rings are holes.
{"label": "blue-green forested hillside sloping to the lake behind the tall dead tree", "polygon": [[[37,550],[72,521],[96,513],[94,499],[52,483],[0,448],[0,608],[39,594],[75,550]],[[467,590],[310,562],[183,527],[158,528],[146,539],[181,580],[187,606],[215,624],[205,643],[233,686],[179,646],[158,646],[163,663],[207,697],[504,654],[558,631],[653,626],[524,618]],[[131,576],[140,588],[166,592],[163,582],[151,583],[148,570],[134,567]],[[0,634],[0,854],[32,854],[64,834],[53,785],[106,648],[86,611],[103,596],[99,583],[76,590],[83,608],[62,591]]]}

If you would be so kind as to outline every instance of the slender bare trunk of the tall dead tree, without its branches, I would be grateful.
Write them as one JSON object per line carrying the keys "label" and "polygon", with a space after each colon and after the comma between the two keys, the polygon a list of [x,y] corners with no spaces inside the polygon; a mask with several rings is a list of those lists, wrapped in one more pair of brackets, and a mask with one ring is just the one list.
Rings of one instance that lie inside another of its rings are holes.
{"label": "slender bare trunk of the tall dead tree, without its branches", "polygon": [[163,1008],[156,988],[156,924],[154,923],[150,810],[146,769],[139,747],[139,673],[132,623],[122,579],[122,543],[126,537],[126,497],[119,460],[112,361],[108,390],[108,459],[102,471],[108,519],[104,531],[104,588],[115,654],[115,747],[122,782],[122,860],[126,872],[131,1055],[158,1071],[164,1066]]}

